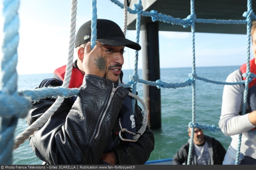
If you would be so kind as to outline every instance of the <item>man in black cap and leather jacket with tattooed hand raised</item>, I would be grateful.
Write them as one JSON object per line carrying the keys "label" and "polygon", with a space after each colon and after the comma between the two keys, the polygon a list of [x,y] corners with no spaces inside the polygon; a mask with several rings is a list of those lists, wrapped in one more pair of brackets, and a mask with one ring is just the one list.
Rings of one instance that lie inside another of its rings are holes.
{"label": "man in black cap and leather jacket with tattooed hand raised", "polygon": [[[118,86],[124,63],[124,47],[140,50],[127,40],[120,27],[97,19],[97,42],[91,49],[91,21],[75,38],[78,59],[74,62],[69,88],[80,88],[78,97],[66,98],[60,108],[30,138],[36,156],[47,164],[144,164],[154,150],[154,136],[147,127],[137,142],[132,135],[118,134],[123,128],[137,133],[142,125],[137,103],[133,113],[128,90]],[[66,66],[54,71],[38,88],[60,86]],[[27,117],[35,122],[56,99],[42,99]],[[122,139],[122,140],[121,140]]]}

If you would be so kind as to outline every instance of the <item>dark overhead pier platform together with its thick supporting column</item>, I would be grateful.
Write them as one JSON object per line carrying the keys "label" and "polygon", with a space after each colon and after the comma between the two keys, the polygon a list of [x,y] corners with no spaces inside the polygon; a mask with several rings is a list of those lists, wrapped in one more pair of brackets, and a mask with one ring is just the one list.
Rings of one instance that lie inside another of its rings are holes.
{"label": "dark overhead pier platform together with its thick supporting column", "polygon": [[[128,6],[137,0],[127,0]],[[190,0],[143,0],[143,11],[155,10],[158,13],[170,15],[174,18],[185,19],[190,15]],[[252,8],[256,9],[256,0],[252,0]],[[243,13],[247,11],[247,1],[234,0],[195,0],[195,14],[197,19],[245,20]],[[128,13],[127,29],[136,29],[137,15]],[[158,31],[191,32],[191,28],[181,25],[155,21],[151,17],[141,16],[141,50],[143,62],[143,79],[155,82],[160,79],[159,37]],[[247,34],[246,23],[242,24],[214,24],[195,23],[195,32]],[[171,55],[171,54],[170,54]],[[149,124],[152,129],[161,128],[161,93],[155,86],[143,84],[143,100],[149,110]]]}

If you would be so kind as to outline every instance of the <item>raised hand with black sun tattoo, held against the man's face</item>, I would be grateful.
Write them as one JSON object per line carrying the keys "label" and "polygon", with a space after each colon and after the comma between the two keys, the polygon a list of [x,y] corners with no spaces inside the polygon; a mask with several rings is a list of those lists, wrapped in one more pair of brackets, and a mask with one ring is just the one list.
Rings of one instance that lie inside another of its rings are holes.
{"label": "raised hand with black sun tattoo, held against the man's face", "polygon": [[101,42],[97,41],[93,49],[91,49],[91,42],[86,44],[83,57],[83,70],[85,74],[104,77],[107,70],[107,57],[106,52],[102,49]]}

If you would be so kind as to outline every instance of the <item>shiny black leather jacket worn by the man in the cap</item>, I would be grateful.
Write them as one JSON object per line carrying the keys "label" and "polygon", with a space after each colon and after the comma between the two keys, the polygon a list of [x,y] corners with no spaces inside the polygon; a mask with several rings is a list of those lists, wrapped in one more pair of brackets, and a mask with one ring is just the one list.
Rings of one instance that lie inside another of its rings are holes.
{"label": "shiny black leather jacket worn by the man in the cap", "polygon": [[[57,79],[44,80],[40,87],[60,86]],[[113,89],[116,89],[114,94]],[[113,94],[113,97],[111,95]],[[107,79],[85,75],[74,104],[64,99],[58,110],[30,138],[30,146],[47,164],[99,164],[106,141],[112,134],[116,164],[144,164],[154,150],[153,133],[146,131],[134,145],[116,135],[117,117],[128,91]],[[28,125],[38,119],[56,99],[47,98],[33,104]],[[136,104],[135,124],[141,127],[143,117]],[[118,129],[120,130],[120,128]]]}

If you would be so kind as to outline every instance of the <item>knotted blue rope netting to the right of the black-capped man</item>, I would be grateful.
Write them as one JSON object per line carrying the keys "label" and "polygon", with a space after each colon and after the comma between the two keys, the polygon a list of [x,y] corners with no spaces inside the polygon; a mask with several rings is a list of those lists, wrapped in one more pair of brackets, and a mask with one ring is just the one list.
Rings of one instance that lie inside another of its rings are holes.
{"label": "knotted blue rope netting to the right of the black-capped man", "polygon": [[[124,8],[123,4],[118,2],[118,0],[111,0],[113,3],[118,5],[120,8]],[[180,18],[174,18],[169,15],[160,14],[158,11],[151,10],[150,12],[142,11],[143,7],[141,5],[141,1],[138,0],[138,4],[133,5],[133,9],[131,10],[128,8],[128,12],[130,14],[136,14],[137,13],[137,23],[136,28],[138,26],[138,23],[140,24],[140,16],[149,16],[152,18],[152,21],[162,21],[166,23],[171,23],[173,25],[181,25],[184,28],[187,28],[188,26],[191,26],[191,32],[192,32],[192,73],[189,75],[191,78],[185,80],[184,82],[177,82],[177,83],[168,83],[168,82],[162,82],[161,80],[157,80],[155,82],[146,81],[139,79],[139,76],[137,74],[137,55],[135,55],[135,66],[134,66],[134,73],[130,76],[130,82],[127,84],[124,84],[124,87],[130,87],[133,84],[133,90],[136,90],[136,84],[137,82],[144,83],[147,85],[154,85],[157,88],[179,88],[179,87],[185,87],[187,85],[192,85],[192,122],[190,122],[190,127],[193,128],[192,130],[192,136],[190,139],[190,148],[188,153],[188,164],[191,164],[191,153],[192,153],[192,145],[193,145],[193,133],[194,128],[199,127],[202,129],[207,129],[211,131],[220,130],[220,128],[217,128],[216,125],[199,125],[195,122],[195,80],[202,80],[209,83],[215,83],[220,85],[237,85],[237,84],[243,84],[245,83],[245,92],[244,92],[244,103],[243,103],[243,114],[245,114],[245,106],[247,102],[247,94],[248,94],[248,83],[251,82],[253,77],[255,77],[255,74],[250,73],[250,25],[251,25],[251,19],[256,19],[253,10],[251,8],[251,0],[247,1],[247,7],[248,10],[244,12],[243,16],[246,17],[246,20],[216,20],[216,19],[197,19],[195,14],[195,8],[194,8],[194,0],[190,1],[190,15],[188,15],[185,19]],[[139,17],[139,18],[138,18]],[[247,24],[247,73],[243,74],[244,77],[246,77],[246,80],[242,80],[240,82],[221,82],[221,81],[215,81],[215,80],[209,80],[203,77],[199,77],[196,74],[196,67],[195,67],[195,22],[198,23],[215,23],[215,24]],[[137,29],[136,29],[137,30]],[[137,32],[138,35],[138,32]],[[134,91],[135,91],[134,90]],[[133,91],[133,93],[134,93]],[[241,141],[241,136],[239,136],[239,141]],[[240,153],[240,143],[238,144],[237,149],[237,157],[236,157],[236,164],[238,164],[238,156]]]}

